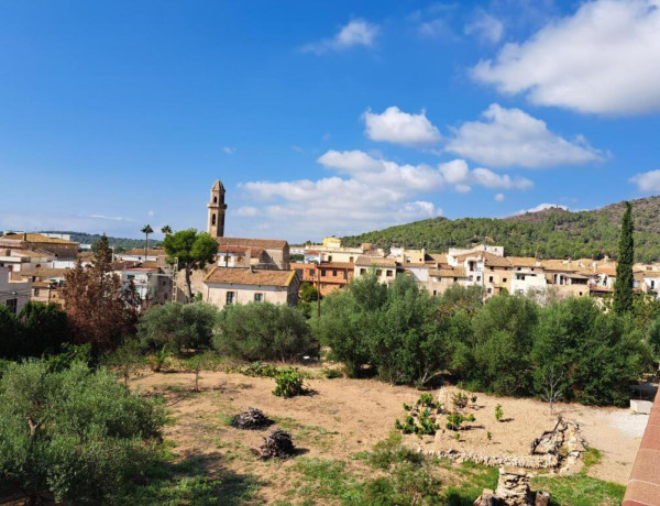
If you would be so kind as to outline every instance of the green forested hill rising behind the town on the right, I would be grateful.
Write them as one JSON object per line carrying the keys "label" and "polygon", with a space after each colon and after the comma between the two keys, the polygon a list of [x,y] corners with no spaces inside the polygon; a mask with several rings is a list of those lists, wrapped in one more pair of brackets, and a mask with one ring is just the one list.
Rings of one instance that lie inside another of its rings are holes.
{"label": "green forested hill rising behind the town on the right", "polygon": [[[632,200],[635,256],[639,262],[660,260],[660,196]],[[345,245],[370,242],[377,245],[407,245],[444,252],[486,241],[499,244],[505,254],[539,258],[616,258],[624,202],[570,212],[548,209],[505,219],[435,218],[343,238]]]}

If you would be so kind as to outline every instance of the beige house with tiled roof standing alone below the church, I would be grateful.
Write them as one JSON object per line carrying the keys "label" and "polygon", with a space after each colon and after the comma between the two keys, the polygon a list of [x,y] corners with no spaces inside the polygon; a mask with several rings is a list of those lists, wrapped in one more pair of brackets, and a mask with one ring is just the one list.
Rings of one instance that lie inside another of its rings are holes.
{"label": "beige house with tiled roof standing alone below the church", "polygon": [[213,267],[204,279],[204,300],[222,309],[230,304],[298,304],[300,279],[295,271]]}

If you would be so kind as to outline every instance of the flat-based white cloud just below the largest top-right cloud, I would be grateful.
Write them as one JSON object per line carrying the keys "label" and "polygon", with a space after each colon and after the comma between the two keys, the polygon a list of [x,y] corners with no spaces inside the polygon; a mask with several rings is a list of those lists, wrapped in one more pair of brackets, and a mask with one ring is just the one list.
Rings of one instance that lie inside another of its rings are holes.
{"label": "flat-based white cloud just below the largest top-right cloud", "polygon": [[446,150],[492,167],[542,168],[604,158],[583,136],[569,142],[520,109],[493,103],[483,116],[486,121],[470,121],[455,129]]}

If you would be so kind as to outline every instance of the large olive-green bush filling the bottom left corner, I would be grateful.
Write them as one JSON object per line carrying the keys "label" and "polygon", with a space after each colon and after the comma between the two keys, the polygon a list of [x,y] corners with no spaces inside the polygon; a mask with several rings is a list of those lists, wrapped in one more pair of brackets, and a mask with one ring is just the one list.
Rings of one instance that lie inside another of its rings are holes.
{"label": "large olive-green bush filling the bottom left corner", "polygon": [[156,459],[162,408],[82,362],[10,365],[0,380],[0,483],[33,503],[119,501]]}

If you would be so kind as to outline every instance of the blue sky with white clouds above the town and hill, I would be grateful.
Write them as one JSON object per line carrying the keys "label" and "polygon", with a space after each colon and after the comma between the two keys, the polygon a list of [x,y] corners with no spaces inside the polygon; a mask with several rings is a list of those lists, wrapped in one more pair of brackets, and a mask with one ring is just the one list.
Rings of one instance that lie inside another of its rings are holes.
{"label": "blue sky with white clouds above the town and hill", "polygon": [[660,0],[0,1],[0,229],[290,241],[660,193]]}

